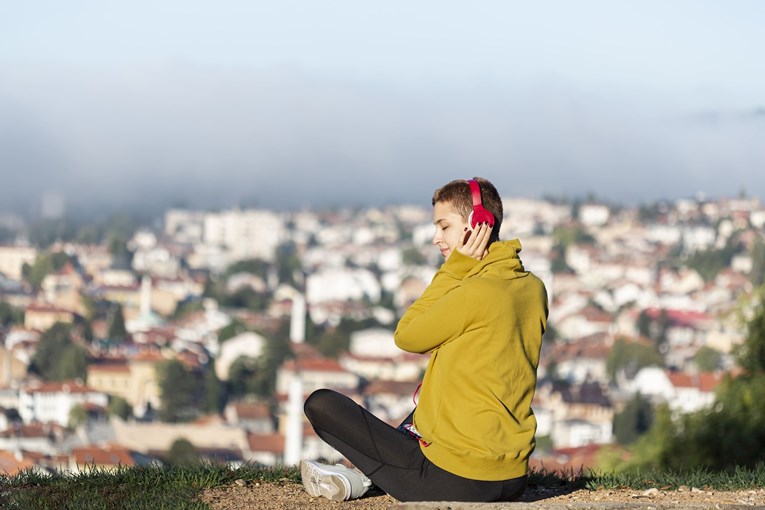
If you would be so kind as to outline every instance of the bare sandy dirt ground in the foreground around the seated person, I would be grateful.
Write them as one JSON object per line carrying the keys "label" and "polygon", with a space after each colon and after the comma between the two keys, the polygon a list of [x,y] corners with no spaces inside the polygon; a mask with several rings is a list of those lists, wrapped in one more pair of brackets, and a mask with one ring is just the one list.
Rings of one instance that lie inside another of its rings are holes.
{"label": "bare sandy dirt ground in the foreground around the seated person", "polygon": [[[395,509],[398,501],[388,495],[366,496],[364,498],[335,502],[325,498],[312,498],[303,486],[292,482],[250,483],[238,480],[228,487],[206,490],[202,501],[215,510],[248,509],[335,509],[347,508],[388,510]],[[553,504],[577,505],[585,503],[645,503],[651,505],[746,505],[765,506],[765,489],[743,491],[712,491],[681,487],[667,491],[658,488],[645,491],[620,490],[578,490],[531,487],[526,490],[522,502],[549,502]]]}

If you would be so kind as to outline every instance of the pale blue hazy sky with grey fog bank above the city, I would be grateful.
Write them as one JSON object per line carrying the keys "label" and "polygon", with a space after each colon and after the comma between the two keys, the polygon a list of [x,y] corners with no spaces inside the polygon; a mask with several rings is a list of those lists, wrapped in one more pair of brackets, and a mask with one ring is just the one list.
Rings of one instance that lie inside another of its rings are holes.
{"label": "pale blue hazy sky with grey fog bank above the city", "polygon": [[0,3],[0,213],[765,199],[759,0]]}

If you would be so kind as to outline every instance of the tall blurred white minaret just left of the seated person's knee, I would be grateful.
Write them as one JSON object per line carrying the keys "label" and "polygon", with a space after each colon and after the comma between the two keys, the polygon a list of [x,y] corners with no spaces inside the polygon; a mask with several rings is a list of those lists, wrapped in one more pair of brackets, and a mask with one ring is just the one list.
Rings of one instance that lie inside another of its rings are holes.
{"label": "tall blurred white minaret just left of the seated person's knee", "polygon": [[[301,344],[305,340],[305,298],[295,291],[290,316],[290,340]],[[284,465],[300,462],[303,454],[303,377],[300,374],[299,354],[295,356],[295,371],[290,381],[287,399],[287,427],[284,438]]]}

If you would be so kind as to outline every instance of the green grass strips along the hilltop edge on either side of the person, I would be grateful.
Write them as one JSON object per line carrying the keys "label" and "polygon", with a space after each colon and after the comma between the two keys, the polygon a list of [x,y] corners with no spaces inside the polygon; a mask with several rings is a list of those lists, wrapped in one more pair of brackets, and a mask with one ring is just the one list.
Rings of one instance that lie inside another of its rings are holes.
{"label": "green grass strips along the hilltop edge on either side of the person", "polygon": [[[245,465],[238,469],[213,464],[180,467],[129,467],[116,471],[93,468],[80,473],[54,475],[25,471],[0,476],[0,508],[40,510],[111,509],[207,509],[198,500],[202,490],[234,483],[238,479],[257,482],[299,483],[297,468],[263,468]],[[703,469],[682,473],[584,473],[583,471],[534,470],[529,485],[571,489],[673,490],[681,486],[714,490],[765,487],[765,464],[755,469],[720,473]]]}

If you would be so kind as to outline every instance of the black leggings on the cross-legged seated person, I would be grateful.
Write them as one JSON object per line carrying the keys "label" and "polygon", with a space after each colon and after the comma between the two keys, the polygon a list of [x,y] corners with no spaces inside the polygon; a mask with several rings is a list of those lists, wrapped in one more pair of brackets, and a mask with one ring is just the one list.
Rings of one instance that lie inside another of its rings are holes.
{"label": "black leggings on the cross-legged seated person", "polygon": [[487,482],[439,468],[425,457],[416,438],[335,391],[313,392],[305,401],[305,414],[321,439],[399,501],[513,501],[526,488],[525,476]]}

